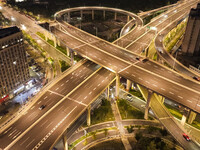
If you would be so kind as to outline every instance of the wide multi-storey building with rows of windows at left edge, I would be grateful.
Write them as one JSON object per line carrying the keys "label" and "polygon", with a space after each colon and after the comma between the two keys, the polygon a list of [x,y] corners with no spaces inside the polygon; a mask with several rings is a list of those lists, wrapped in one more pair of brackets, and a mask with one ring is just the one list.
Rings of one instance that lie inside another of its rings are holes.
{"label": "wide multi-storey building with rows of windows at left edge", "polygon": [[21,30],[16,26],[0,29],[0,99],[29,77]]}

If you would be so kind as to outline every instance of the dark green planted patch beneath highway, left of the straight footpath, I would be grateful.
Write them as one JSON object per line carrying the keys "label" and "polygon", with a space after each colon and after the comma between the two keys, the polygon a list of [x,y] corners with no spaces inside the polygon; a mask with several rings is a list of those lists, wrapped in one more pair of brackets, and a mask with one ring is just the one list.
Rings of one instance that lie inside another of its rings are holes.
{"label": "dark green planted patch beneath highway, left of the straight footpath", "polygon": [[112,112],[110,101],[107,99],[102,100],[99,108],[94,109],[91,115],[91,124],[97,124],[105,121],[113,121],[114,115]]}

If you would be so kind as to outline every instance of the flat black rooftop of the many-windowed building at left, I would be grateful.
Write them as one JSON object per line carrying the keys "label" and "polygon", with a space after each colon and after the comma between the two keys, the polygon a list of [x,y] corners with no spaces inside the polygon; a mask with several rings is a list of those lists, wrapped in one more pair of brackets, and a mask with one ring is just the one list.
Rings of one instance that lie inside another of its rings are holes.
{"label": "flat black rooftop of the many-windowed building at left", "polygon": [[20,32],[20,29],[16,26],[0,29],[0,39],[17,32]]}

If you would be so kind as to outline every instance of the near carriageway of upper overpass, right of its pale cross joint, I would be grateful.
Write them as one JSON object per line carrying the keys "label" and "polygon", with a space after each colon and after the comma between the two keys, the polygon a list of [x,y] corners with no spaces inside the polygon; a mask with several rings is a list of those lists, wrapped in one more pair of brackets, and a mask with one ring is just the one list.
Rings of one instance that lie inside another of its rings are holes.
{"label": "near carriageway of upper overpass, right of its pale cross joint", "polygon": [[[167,78],[151,73],[135,66],[131,66],[122,72],[120,75],[139,85],[145,86],[148,89],[156,91],[156,93],[183,104],[186,107],[200,112],[199,97],[200,94],[188,87],[175,83]],[[157,76],[157,82],[155,79]],[[151,79],[151,81],[150,81]],[[172,91],[172,87],[175,89]],[[179,90],[178,90],[179,89]],[[179,92],[181,91],[181,92]]]}

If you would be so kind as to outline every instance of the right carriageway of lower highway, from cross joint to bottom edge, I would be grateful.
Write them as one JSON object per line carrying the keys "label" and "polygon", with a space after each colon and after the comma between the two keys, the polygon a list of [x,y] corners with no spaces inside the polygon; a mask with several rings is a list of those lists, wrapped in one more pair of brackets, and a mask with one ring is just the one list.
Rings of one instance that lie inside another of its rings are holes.
{"label": "right carriageway of lower highway, from cross joint to bottom edge", "polygon": [[33,126],[10,149],[30,150],[41,141],[42,145],[40,145],[39,149],[49,149],[61,133],[65,131],[64,129],[69,127],[83,109],[85,109],[85,106],[66,98],[53,111]]}

